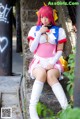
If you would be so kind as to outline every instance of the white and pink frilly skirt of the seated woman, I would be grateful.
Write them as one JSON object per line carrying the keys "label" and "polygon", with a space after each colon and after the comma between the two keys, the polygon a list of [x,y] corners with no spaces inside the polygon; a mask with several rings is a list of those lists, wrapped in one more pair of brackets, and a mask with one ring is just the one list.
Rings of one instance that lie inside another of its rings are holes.
{"label": "white and pink frilly skirt of the seated woman", "polygon": [[[32,71],[34,68],[42,67],[46,69],[47,65],[49,64],[49,61],[53,57],[49,58],[42,58],[38,55],[34,55],[34,58],[32,59],[31,63],[29,64],[29,70],[28,73],[30,74],[31,79],[35,79],[35,77],[32,75]],[[53,65],[53,69],[58,69],[60,74],[64,71],[60,61],[58,60],[55,65]]]}

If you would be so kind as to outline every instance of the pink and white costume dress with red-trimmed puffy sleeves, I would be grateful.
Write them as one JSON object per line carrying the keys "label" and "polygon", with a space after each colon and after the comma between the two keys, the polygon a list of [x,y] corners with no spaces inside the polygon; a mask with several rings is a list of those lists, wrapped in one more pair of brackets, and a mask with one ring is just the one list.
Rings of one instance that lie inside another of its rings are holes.
{"label": "pink and white costume dress with red-trimmed puffy sleeves", "polygon": [[[35,34],[37,34],[38,32],[36,31],[36,27],[37,26],[33,26],[30,29],[28,34],[28,40],[35,39]],[[55,56],[57,47],[56,39],[58,43],[64,43],[67,41],[65,31],[61,27],[59,28],[58,33],[56,30],[56,26],[54,26],[48,32],[46,32],[46,34],[48,36],[48,40],[46,40],[44,34],[40,36],[40,42],[34,52],[34,58],[29,65],[29,73],[32,79],[34,79],[32,75],[32,70],[37,67],[43,67],[46,69],[50,60],[52,60],[52,58]],[[53,68],[58,69],[60,73],[64,71],[59,60],[56,62]]]}

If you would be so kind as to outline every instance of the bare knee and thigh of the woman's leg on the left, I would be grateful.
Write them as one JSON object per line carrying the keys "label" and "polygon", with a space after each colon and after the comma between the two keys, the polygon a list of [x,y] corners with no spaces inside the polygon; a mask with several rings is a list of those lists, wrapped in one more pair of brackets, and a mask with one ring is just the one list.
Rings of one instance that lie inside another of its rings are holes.
{"label": "bare knee and thigh of the woman's leg on the left", "polygon": [[46,70],[42,67],[34,68],[32,71],[33,76],[36,80],[40,80],[42,82],[46,81]]}

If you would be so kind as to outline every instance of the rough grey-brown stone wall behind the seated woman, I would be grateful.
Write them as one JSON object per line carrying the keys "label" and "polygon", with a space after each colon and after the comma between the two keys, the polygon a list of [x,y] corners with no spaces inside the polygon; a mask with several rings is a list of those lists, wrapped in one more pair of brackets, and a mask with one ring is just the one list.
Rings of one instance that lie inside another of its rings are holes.
{"label": "rough grey-brown stone wall behind the seated woman", "polygon": [[[31,94],[32,84],[33,84],[33,81],[30,80],[30,77],[28,75],[28,65],[32,59],[32,54],[29,51],[28,42],[27,42],[27,34],[31,26],[36,24],[37,18],[36,18],[35,12],[37,11],[37,9],[39,9],[43,5],[43,2],[47,4],[49,0],[44,0],[44,1],[42,0],[40,1],[39,0],[33,0],[33,1],[21,0],[21,27],[22,27],[23,54],[24,54],[23,80],[24,80],[24,98],[26,99],[25,119],[29,119],[29,113],[28,113],[29,105],[28,104],[29,104],[29,99],[30,99],[30,94]],[[67,32],[67,29],[65,26],[65,13],[64,12],[62,13],[63,11],[62,7],[58,8],[57,6],[56,8],[61,18],[61,19],[59,18],[59,24],[61,24]],[[65,51],[67,51],[66,52],[67,56],[69,55],[71,51],[70,49],[71,49],[71,45],[70,45],[70,41],[68,40],[68,46],[65,48]],[[65,82],[61,81],[61,83],[62,85],[65,84],[66,80]],[[51,88],[47,84],[45,84],[44,86],[44,90],[40,98],[40,101],[46,104],[49,108],[52,108],[55,113],[60,110],[60,105],[57,99],[55,98],[55,96],[53,95]]]}

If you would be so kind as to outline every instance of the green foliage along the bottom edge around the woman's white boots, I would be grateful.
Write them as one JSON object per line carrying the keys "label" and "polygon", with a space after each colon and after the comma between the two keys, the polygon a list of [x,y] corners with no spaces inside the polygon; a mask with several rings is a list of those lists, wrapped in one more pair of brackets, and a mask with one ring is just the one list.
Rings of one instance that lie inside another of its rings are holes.
{"label": "green foliage along the bottom edge around the woman's white boots", "polygon": [[60,110],[56,115],[46,105],[38,103],[38,115],[44,119],[80,119],[80,108],[71,108],[69,106],[66,110]]}

